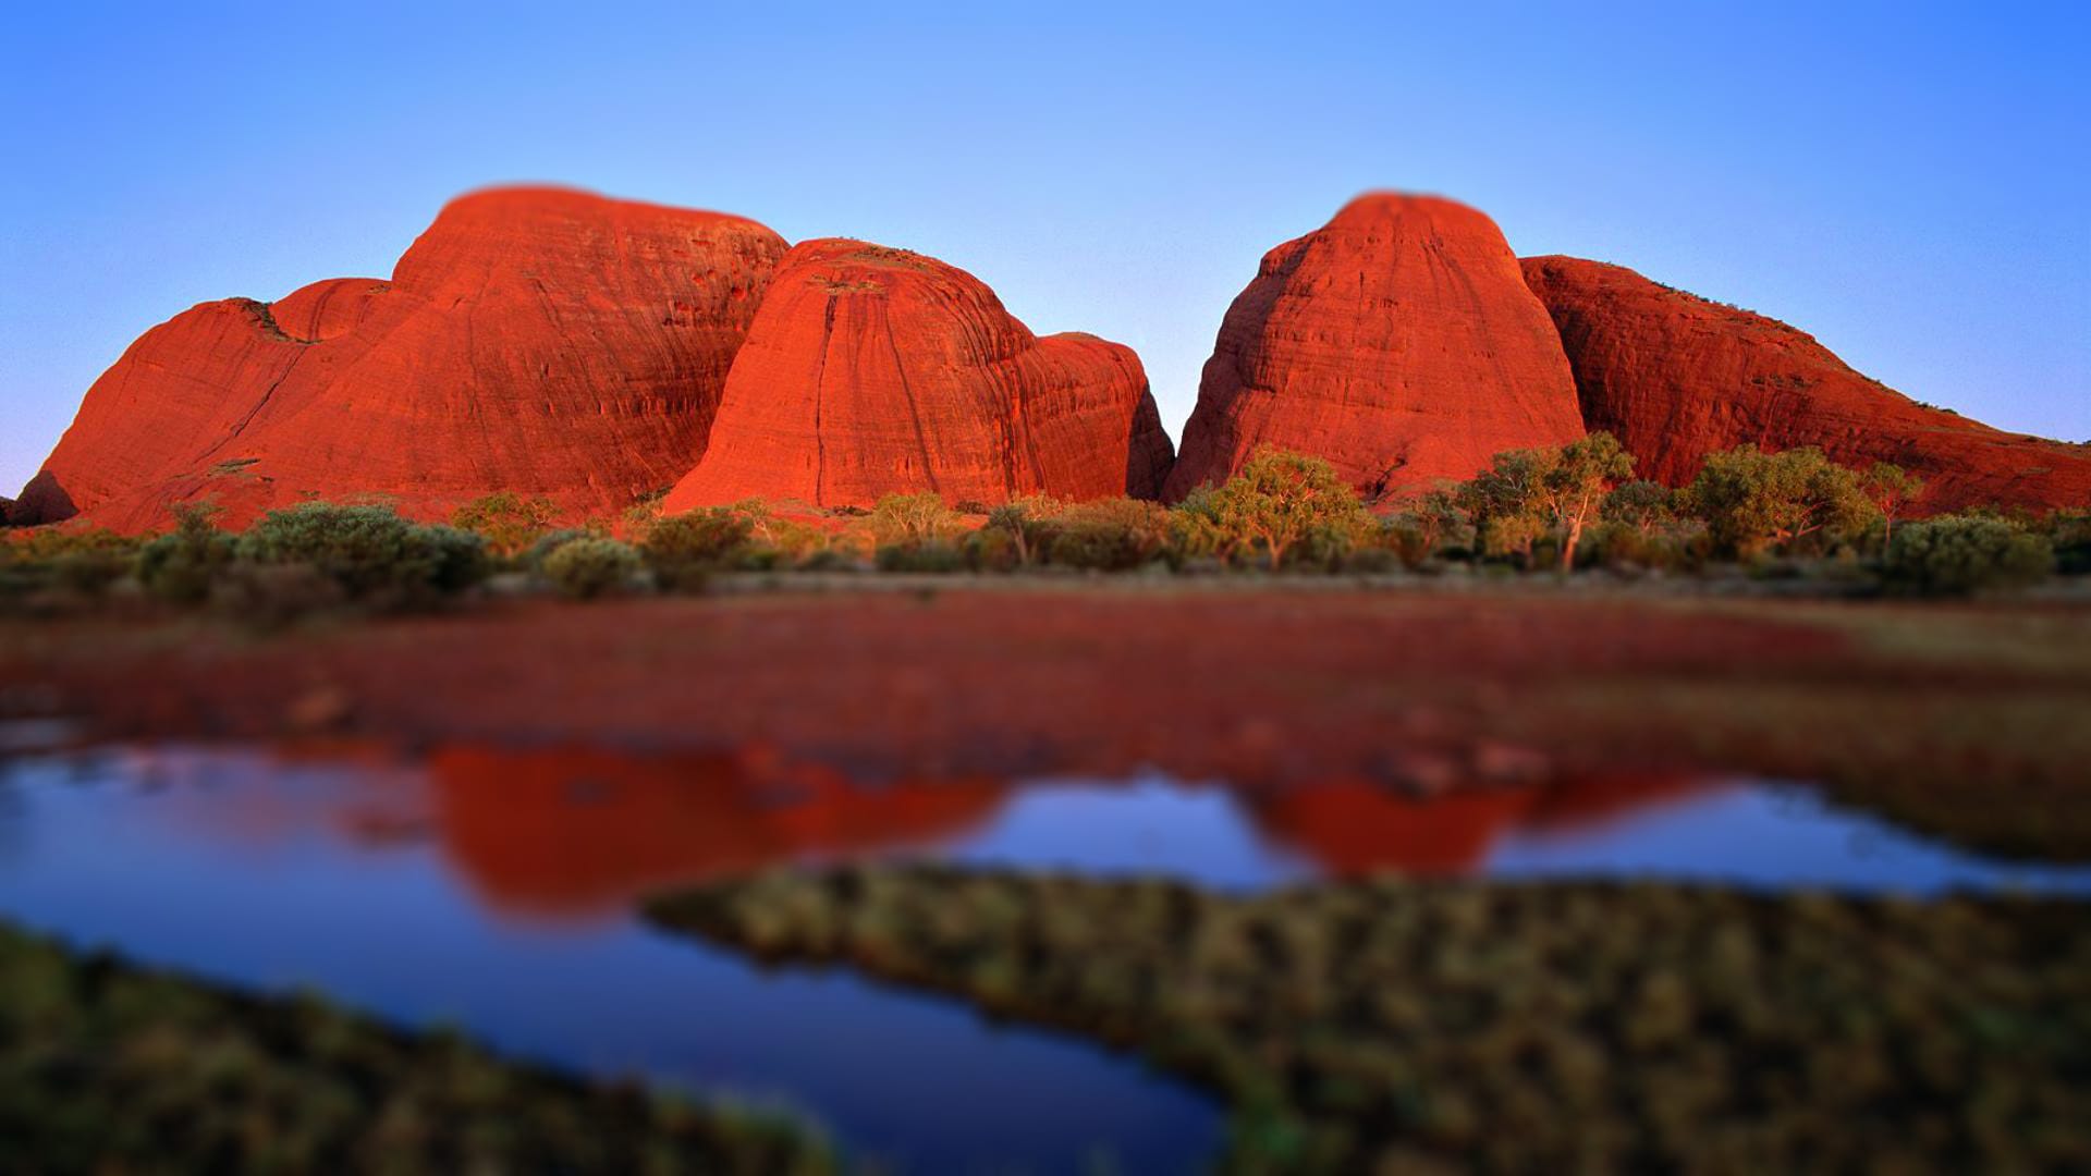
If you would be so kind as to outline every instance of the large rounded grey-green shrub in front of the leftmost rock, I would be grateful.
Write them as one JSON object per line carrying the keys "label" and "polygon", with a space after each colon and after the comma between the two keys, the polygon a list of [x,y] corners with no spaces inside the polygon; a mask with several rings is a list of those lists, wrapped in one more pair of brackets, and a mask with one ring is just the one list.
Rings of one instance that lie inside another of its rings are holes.
{"label": "large rounded grey-green shrub in front of the leftmost rock", "polygon": [[351,601],[418,607],[485,580],[485,540],[416,525],[387,506],[303,502],[270,511],[234,546],[249,563],[303,563]]}

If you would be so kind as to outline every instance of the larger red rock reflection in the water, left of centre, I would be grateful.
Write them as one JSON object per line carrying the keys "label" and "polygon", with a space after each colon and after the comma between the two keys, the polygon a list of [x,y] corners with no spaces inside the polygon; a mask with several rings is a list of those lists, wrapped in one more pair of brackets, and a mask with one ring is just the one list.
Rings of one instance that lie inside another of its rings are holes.
{"label": "larger red rock reflection in the water, left of centre", "polygon": [[445,747],[429,762],[443,854],[521,914],[585,917],[671,883],[960,835],[1008,789],[857,787],[751,755]]}

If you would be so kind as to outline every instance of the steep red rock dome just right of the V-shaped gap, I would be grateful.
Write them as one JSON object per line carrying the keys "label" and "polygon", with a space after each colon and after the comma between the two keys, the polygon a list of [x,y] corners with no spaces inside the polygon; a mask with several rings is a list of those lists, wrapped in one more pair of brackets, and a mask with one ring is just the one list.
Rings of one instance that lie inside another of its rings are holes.
{"label": "steep red rock dome just right of the V-shaped gap", "polygon": [[1167,498],[1263,444],[1382,496],[1579,435],[1560,339],[1495,222],[1378,193],[1263,255],[1219,326]]}

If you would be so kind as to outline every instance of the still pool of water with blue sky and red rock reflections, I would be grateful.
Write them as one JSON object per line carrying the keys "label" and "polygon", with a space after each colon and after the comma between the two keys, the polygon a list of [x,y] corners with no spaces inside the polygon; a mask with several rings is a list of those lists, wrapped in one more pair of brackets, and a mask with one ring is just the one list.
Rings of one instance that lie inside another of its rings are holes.
{"label": "still pool of water with blue sky and red rock reflections", "polygon": [[0,919],[508,1055],[805,1111],[905,1170],[1184,1172],[1196,1092],[1081,1040],[650,931],[646,894],[935,858],[1263,889],[1372,870],[2091,894],[1807,789],[1600,778],[1414,801],[1163,776],[861,787],[749,757],[125,749],[0,762]]}

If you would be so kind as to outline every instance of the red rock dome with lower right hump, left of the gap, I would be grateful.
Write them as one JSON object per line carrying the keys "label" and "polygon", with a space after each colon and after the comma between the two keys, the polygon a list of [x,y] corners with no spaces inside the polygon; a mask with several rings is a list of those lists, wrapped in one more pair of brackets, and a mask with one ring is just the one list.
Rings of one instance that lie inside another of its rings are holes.
{"label": "red rock dome with lower right hump, left of the gap", "polygon": [[1152,498],[1167,465],[1129,347],[1039,339],[979,278],[920,253],[807,241],[778,266],[705,458],[665,508]]}

